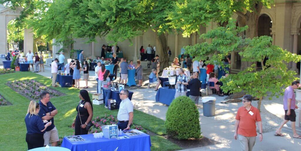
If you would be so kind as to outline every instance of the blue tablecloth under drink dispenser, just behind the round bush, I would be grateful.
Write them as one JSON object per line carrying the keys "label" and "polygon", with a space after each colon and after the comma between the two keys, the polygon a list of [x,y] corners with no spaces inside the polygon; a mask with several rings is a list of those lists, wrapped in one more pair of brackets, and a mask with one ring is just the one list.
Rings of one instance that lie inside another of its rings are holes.
{"label": "blue tablecloth under drink dispenser, just behind the round bush", "polygon": [[[186,93],[189,96],[189,92]],[[156,94],[156,102],[161,102],[166,105],[170,105],[175,98],[175,89],[168,89],[168,87],[159,88]]]}

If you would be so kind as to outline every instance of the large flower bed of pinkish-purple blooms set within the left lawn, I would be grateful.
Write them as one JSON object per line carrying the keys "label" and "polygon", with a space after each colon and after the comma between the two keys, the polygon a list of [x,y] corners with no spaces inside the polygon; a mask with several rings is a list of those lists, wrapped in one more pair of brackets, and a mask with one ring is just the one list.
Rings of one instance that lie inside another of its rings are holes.
{"label": "large flower bed of pinkish-purple blooms set within the left lawn", "polygon": [[56,90],[50,89],[47,86],[42,85],[41,83],[36,82],[35,80],[21,80],[21,81],[8,81],[6,83],[11,89],[20,93],[29,99],[39,99],[40,93],[42,91],[48,91],[50,96],[61,96],[65,95],[64,93],[58,92]]}

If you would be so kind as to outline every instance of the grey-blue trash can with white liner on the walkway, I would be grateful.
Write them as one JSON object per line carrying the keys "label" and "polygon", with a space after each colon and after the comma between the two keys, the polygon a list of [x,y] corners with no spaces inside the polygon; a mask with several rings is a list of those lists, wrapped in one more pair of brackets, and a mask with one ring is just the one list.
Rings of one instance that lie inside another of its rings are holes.
{"label": "grey-blue trash can with white liner on the walkway", "polygon": [[203,102],[203,115],[214,116],[215,115],[215,97],[206,96],[202,98]]}

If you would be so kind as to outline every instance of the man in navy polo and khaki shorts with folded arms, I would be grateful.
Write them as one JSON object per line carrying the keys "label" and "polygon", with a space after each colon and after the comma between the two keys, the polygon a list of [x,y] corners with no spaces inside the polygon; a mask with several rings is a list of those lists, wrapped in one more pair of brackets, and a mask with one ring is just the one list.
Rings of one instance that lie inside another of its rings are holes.
{"label": "man in navy polo and khaki shorts with folded arms", "polygon": [[46,132],[44,134],[44,146],[48,143],[51,143],[51,146],[57,146],[57,141],[59,141],[57,129],[54,126],[54,119],[53,117],[57,114],[57,109],[54,105],[49,101],[50,95],[49,92],[43,91],[40,94],[40,111],[39,116],[43,120],[51,121],[52,124],[46,128]]}

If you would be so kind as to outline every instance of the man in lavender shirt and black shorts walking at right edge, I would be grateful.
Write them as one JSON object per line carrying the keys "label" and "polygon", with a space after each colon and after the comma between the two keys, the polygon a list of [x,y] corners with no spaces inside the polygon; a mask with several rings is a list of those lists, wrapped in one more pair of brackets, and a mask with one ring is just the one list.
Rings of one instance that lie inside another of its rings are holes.
{"label": "man in lavender shirt and black shorts walking at right edge", "polygon": [[293,137],[294,138],[301,138],[300,135],[296,132],[296,113],[295,109],[298,109],[296,105],[296,96],[294,93],[294,89],[297,89],[300,85],[299,81],[294,81],[291,86],[288,86],[284,91],[283,97],[283,108],[285,112],[284,121],[281,122],[279,128],[276,130],[275,136],[284,136],[281,134],[281,128],[285,123],[288,121],[291,122],[292,130],[293,130]]}

